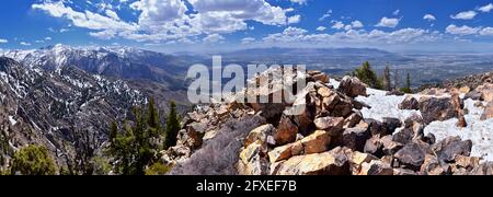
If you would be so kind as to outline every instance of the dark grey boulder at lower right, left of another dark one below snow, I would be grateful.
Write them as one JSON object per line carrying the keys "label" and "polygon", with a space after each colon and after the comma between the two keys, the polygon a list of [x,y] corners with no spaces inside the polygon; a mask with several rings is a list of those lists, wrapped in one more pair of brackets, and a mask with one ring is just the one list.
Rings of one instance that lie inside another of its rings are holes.
{"label": "dark grey boulder at lower right, left of another dark one below snow", "polygon": [[426,150],[419,143],[409,143],[399,150],[394,158],[404,169],[419,171],[426,157]]}

